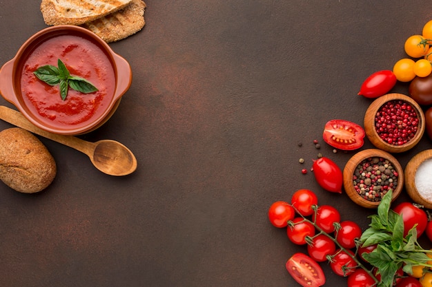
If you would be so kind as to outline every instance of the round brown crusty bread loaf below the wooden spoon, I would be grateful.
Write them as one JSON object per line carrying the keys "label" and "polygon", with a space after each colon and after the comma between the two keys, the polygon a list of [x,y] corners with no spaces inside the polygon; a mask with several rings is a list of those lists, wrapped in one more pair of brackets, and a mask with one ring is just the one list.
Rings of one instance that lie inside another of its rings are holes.
{"label": "round brown crusty bread loaf below the wooden spoon", "polygon": [[22,193],[46,189],[57,167],[45,145],[29,131],[12,127],[0,131],[0,180]]}

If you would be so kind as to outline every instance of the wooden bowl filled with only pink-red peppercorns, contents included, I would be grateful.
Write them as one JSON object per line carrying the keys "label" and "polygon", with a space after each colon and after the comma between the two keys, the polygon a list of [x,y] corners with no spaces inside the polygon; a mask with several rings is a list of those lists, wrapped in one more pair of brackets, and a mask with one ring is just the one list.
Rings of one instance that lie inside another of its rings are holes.
{"label": "wooden bowl filled with only pink-red peppercorns, contents included", "polygon": [[408,151],[424,134],[422,108],[404,94],[386,94],[371,103],[364,115],[364,131],[378,149]]}

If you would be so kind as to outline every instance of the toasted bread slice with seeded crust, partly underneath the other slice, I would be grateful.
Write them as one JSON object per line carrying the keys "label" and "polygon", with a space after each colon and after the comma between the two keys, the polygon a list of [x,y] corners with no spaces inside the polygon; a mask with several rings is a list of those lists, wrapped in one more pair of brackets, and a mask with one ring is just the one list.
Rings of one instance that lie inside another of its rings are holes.
{"label": "toasted bread slice with seeded crust, partly underneath the other slice", "polygon": [[141,30],[144,21],[146,3],[132,0],[126,8],[101,17],[95,21],[84,23],[82,27],[94,32],[107,43],[119,41]]}

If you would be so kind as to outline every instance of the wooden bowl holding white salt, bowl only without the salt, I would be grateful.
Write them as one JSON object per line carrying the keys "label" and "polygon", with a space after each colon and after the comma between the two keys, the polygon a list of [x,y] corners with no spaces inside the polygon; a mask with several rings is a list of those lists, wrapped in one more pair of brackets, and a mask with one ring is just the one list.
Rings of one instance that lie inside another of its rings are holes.
{"label": "wooden bowl holding white salt, bowl only without the salt", "polygon": [[419,192],[418,187],[415,185],[415,173],[417,173],[420,165],[429,159],[432,159],[432,149],[426,149],[416,154],[405,167],[406,192],[415,203],[422,204],[426,209],[432,209],[432,202],[424,198]]}

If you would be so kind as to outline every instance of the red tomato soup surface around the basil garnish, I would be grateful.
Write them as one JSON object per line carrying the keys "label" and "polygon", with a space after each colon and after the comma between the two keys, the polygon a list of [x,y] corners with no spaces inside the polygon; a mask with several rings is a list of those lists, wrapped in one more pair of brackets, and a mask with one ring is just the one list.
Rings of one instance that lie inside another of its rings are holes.
{"label": "red tomato soup surface around the basil garnish", "polygon": [[[72,76],[90,81],[99,91],[90,94],[68,90],[62,100],[59,85],[39,80],[33,72],[43,65],[57,67],[61,59]],[[115,72],[100,47],[75,35],[61,35],[41,43],[26,59],[21,74],[21,94],[28,109],[46,125],[75,128],[89,125],[110,105],[115,89]]]}

